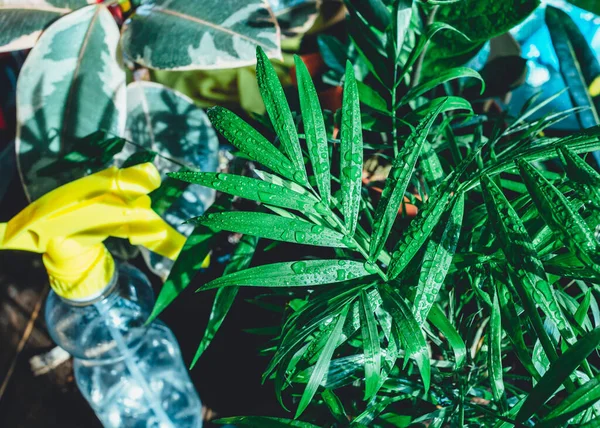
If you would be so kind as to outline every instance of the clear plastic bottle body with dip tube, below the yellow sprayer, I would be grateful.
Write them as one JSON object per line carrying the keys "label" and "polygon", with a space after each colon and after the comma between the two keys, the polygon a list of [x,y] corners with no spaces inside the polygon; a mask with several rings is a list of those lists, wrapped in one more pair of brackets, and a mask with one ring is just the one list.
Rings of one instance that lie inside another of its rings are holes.
{"label": "clear plastic bottle body with dip tube, below the yellow sprayer", "polygon": [[48,296],[50,335],[75,358],[77,385],[105,427],[202,426],[175,336],[161,322],[144,325],[153,304],[149,281],[127,264],[94,299]]}

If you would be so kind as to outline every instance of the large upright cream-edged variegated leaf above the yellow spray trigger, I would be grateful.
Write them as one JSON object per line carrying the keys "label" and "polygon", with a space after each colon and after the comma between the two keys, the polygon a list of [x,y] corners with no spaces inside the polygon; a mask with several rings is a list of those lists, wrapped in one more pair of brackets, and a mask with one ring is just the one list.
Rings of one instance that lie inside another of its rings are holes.
{"label": "large upright cream-edged variegated leaf above the yellow spray trigger", "polygon": [[72,180],[73,172],[39,176],[41,168],[98,130],[123,134],[125,72],[117,60],[119,28],[102,5],[53,23],[40,37],[17,83],[16,150],[30,199]]}

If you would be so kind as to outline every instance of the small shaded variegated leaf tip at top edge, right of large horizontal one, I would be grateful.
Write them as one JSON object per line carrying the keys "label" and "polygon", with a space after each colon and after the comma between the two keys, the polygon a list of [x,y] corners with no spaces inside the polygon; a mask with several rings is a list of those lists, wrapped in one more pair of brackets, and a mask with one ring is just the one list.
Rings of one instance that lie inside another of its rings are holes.
{"label": "small shaded variegated leaf tip at top edge, right of large horizontal one", "polygon": [[321,0],[268,0],[281,28],[281,36],[295,37],[307,32],[319,16]]}

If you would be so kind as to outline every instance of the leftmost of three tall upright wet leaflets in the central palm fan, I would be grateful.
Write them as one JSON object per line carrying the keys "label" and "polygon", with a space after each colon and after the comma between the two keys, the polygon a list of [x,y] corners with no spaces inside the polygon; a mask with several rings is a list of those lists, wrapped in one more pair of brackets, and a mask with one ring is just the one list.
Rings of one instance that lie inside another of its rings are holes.
{"label": "leftmost of three tall upright wet leaflets in the central palm fan", "polygon": [[[300,182],[308,184],[298,132],[290,106],[285,99],[277,73],[260,46],[256,48],[256,80],[275,133],[281,141],[281,146],[288,159],[292,161],[297,171],[296,175],[298,177],[300,174],[303,175]],[[323,125],[324,127],[325,125]]]}

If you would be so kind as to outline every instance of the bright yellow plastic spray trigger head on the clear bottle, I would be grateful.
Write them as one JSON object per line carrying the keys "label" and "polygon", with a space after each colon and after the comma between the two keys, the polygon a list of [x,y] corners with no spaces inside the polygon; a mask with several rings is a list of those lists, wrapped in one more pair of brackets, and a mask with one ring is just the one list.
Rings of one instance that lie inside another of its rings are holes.
{"label": "bright yellow plastic spray trigger head on the clear bottle", "polygon": [[151,208],[148,193],[160,186],[154,165],[111,167],[65,184],[0,223],[0,249],[43,254],[50,285],[62,297],[92,298],[114,274],[102,243],[127,238],[174,259],[185,237]]}

